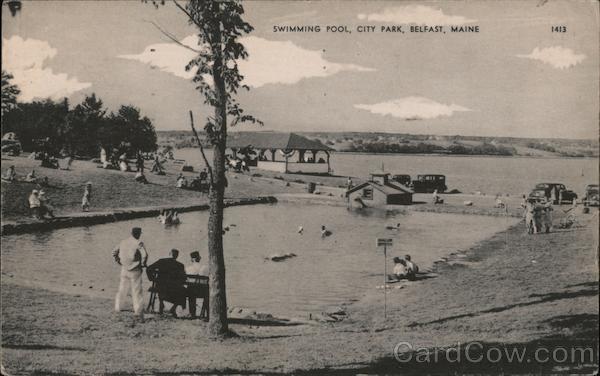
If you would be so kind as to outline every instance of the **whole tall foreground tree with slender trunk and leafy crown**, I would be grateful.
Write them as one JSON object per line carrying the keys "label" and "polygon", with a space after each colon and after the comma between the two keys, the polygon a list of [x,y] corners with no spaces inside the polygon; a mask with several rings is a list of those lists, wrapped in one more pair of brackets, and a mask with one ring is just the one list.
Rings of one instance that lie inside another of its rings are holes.
{"label": "whole tall foreground tree with slender trunk and leafy crown", "polygon": [[[156,6],[162,1],[152,1]],[[208,163],[200,138],[194,128],[200,151],[206,162],[210,181],[210,215],[208,220],[208,254],[210,274],[210,319],[209,332],[213,336],[224,336],[227,326],[227,297],[225,291],[225,261],[223,257],[223,209],[227,181],[225,178],[225,149],[228,126],[257,120],[244,113],[235,100],[243,76],[239,73],[237,60],[248,56],[238,38],[250,33],[253,27],[242,18],[244,8],[238,0],[190,0],[185,5],[172,2],[198,30],[196,57],[186,66],[196,69],[193,81],[204,97],[204,103],[214,109],[204,129],[213,146],[213,163]],[[175,38],[171,38],[176,42]],[[187,46],[189,48],[189,46]],[[258,121],[260,123],[260,121]]]}

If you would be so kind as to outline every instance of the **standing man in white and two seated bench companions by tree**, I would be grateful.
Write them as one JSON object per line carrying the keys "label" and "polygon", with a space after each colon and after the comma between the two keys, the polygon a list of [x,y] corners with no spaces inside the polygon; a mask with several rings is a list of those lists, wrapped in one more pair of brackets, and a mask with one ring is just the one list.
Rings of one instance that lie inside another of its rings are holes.
{"label": "standing man in white and two seated bench companions by tree", "polygon": [[[169,257],[147,265],[148,251],[140,240],[142,229],[134,227],[131,236],[121,241],[113,249],[115,262],[121,265],[119,290],[115,297],[115,310],[122,311],[127,293],[131,292],[134,314],[143,318],[142,274],[146,268],[148,279],[155,283],[159,297],[159,312],[164,310],[164,302],[172,304],[169,312],[177,317],[177,307],[186,308],[186,300],[192,318],[196,317],[196,299],[206,297],[206,291],[199,286],[186,286],[190,276],[207,276],[208,269],[200,263],[200,253],[190,253],[190,263],[184,266],[177,261],[179,251],[172,249]],[[204,299],[206,300],[206,299]],[[203,302],[201,317],[208,317],[208,302]]]}

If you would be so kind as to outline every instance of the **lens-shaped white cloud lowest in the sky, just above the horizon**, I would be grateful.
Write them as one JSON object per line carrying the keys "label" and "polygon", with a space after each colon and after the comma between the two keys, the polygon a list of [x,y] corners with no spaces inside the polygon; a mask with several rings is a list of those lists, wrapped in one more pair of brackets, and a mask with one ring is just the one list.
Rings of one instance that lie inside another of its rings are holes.
{"label": "lens-shaped white cloud lowest in the sky, just above the horizon", "polygon": [[472,111],[456,104],[446,105],[423,97],[405,97],[376,104],[355,104],[354,107],[405,120],[435,119],[440,116],[452,116],[455,112]]}

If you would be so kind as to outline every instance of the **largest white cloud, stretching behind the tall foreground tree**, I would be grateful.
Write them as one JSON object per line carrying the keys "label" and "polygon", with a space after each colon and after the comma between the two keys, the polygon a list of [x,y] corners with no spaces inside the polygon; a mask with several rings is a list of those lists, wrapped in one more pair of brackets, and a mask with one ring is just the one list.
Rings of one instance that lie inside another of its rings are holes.
{"label": "largest white cloud, stretching behind the tall foreground tree", "polygon": [[[342,71],[371,72],[372,68],[356,64],[327,61],[319,50],[307,50],[290,41],[271,41],[255,36],[240,39],[248,51],[248,59],[238,62],[244,84],[261,87],[267,84],[295,84],[303,78],[327,77]],[[198,48],[197,38],[189,36],[182,44]],[[195,56],[175,43],[158,43],[138,55],[120,55],[120,58],[140,61],[175,76],[191,79],[194,72],[185,66]]]}

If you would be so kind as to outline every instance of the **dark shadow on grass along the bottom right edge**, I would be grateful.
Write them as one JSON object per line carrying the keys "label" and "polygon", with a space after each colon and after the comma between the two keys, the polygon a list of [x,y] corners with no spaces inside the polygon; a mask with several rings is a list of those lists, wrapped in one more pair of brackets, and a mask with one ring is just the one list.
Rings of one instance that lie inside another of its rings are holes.
{"label": "dark shadow on grass along the bottom right edge", "polygon": [[[153,375],[339,375],[356,374],[592,374],[598,366],[598,316],[578,314],[556,316],[546,321],[559,333],[529,342],[501,343],[464,342],[439,348],[413,348],[398,354],[391,353],[369,363],[349,363],[340,367],[322,367],[269,372],[260,369],[210,369],[189,372],[161,372],[151,370]],[[555,354],[555,355],[553,355]],[[566,356],[565,356],[566,354]],[[400,360],[398,360],[400,359]],[[284,360],[282,360],[284,361]],[[107,375],[134,375],[114,372]]]}

